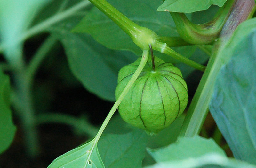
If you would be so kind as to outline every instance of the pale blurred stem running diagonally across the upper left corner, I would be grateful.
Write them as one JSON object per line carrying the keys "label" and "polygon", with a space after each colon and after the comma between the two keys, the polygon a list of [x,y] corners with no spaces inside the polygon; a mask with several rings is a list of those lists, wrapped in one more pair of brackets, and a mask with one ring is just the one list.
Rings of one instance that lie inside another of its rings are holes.
{"label": "pale blurred stem running diagonally across the upper left corner", "polygon": [[[88,1],[82,1],[80,3],[77,3],[76,5],[74,5],[73,7],[63,11],[63,12],[57,12],[57,14],[53,15],[52,17],[46,19],[45,21],[36,24],[35,26],[31,27],[30,29],[28,29],[26,32],[24,32],[23,34],[21,34],[20,38],[17,40],[17,44],[20,43],[21,41],[24,41],[25,39],[40,33],[42,31],[44,31],[46,28],[48,28],[49,26],[56,24],[58,22],[60,22],[61,20],[64,20],[67,17],[72,16],[74,13],[76,13],[77,11],[85,8],[86,6],[90,5],[91,3]],[[0,44],[0,53],[2,53],[5,48],[6,48],[6,44],[3,42]]]}

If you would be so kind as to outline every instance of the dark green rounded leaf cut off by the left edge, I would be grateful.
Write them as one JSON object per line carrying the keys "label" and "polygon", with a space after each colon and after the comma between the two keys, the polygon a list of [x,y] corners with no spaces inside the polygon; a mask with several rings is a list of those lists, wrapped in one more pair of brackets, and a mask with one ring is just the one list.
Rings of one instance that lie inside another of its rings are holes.
{"label": "dark green rounded leaf cut off by the left edge", "polygon": [[10,146],[16,131],[10,109],[10,87],[9,77],[0,70],[0,154]]}

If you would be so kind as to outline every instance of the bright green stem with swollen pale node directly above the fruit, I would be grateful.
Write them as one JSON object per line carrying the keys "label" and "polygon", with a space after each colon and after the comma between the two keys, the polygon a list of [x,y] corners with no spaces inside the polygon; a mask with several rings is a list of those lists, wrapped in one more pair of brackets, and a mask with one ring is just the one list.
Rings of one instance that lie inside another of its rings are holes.
{"label": "bright green stem with swollen pale node directly above the fruit", "polygon": [[[152,48],[161,53],[166,53],[173,58],[180,60],[181,62],[194,67],[195,69],[204,71],[205,67],[189,60],[188,58],[182,56],[181,54],[173,51],[169,45],[175,46],[174,43],[177,42],[177,46],[189,45],[184,40],[179,37],[161,37],[158,36],[152,30],[141,27],[138,24],[132,22],[129,18],[124,16],[121,12],[116,10],[112,5],[110,5],[106,0],[89,0],[92,2],[99,10],[101,10],[105,15],[107,15],[111,20],[113,20],[126,34],[128,34],[133,42],[139,46],[142,50],[147,50],[148,45],[151,44]],[[167,40],[167,43],[165,42]]]}

